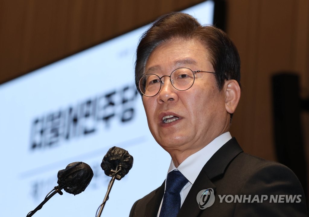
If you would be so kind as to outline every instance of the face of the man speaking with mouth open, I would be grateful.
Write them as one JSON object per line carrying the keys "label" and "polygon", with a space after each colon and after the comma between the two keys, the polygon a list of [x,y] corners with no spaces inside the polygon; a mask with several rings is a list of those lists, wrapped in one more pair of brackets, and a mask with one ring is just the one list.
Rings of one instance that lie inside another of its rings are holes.
{"label": "face of the man speaking with mouth open", "polygon": [[[173,39],[150,54],[145,74],[162,77],[180,67],[214,72],[208,52],[199,41]],[[218,90],[213,73],[196,73],[193,86],[185,91],[176,90],[167,76],[162,80],[160,92],[153,97],[143,96],[143,105],[152,135],[167,152],[193,154],[227,131],[225,94]],[[163,121],[166,118],[170,121]]]}

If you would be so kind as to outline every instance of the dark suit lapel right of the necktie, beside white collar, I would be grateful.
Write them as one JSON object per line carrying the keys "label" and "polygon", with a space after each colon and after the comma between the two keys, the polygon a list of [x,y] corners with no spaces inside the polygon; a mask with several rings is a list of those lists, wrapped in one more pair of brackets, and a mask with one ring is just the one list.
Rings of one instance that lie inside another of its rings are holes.
{"label": "dark suit lapel right of the necktie, beside white collar", "polygon": [[[202,210],[199,208],[196,201],[197,194],[201,190],[208,188],[212,188],[215,191],[216,186],[211,180],[215,177],[219,178],[222,176],[227,165],[229,165],[229,163],[241,152],[243,152],[243,150],[233,137],[209,159],[193,183],[193,186],[180,208],[178,217],[195,217],[199,215]],[[205,210],[207,211],[207,208]]]}

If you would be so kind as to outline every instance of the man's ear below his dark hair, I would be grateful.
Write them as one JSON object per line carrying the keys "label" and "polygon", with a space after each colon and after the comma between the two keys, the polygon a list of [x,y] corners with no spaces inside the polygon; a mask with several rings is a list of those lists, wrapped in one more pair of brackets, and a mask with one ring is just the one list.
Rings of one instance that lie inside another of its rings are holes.
{"label": "man's ear below his dark hair", "polygon": [[224,84],[225,90],[225,108],[230,114],[236,110],[240,99],[240,87],[236,80],[226,80]]}

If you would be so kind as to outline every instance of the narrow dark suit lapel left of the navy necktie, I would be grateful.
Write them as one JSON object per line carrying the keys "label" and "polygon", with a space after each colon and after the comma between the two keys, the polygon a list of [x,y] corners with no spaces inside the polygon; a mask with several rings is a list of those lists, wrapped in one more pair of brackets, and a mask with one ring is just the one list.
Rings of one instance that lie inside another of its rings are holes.
{"label": "narrow dark suit lapel left of the navy necktie", "polygon": [[165,181],[155,191],[155,195],[146,204],[146,215],[145,217],[156,217],[158,215],[159,207],[163,198],[165,189]]}

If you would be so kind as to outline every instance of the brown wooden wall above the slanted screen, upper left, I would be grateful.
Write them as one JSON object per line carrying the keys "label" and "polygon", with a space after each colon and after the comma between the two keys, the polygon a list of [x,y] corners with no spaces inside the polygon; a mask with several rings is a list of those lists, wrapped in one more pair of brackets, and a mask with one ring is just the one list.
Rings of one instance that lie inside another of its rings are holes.
{"label": "brown wooden wall above the slanted screen, upper left", "polygon": [[0,84],[202,0],[0,0]]}

